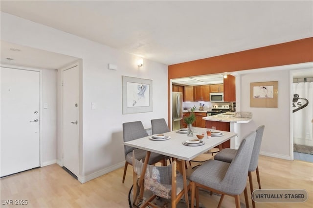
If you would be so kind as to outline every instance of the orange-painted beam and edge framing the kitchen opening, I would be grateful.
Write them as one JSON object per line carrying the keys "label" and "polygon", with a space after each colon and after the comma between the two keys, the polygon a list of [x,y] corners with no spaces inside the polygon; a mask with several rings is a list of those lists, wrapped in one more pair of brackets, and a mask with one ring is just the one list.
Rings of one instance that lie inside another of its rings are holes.
{"label": "orange-painted beam and edge framing the kitchen opening", "polygon": [[[259,69],[312,61],[313,37],[170,65],[168,66],[168,100],[170,100],[170,79],[173,78]],[[170,103],[168,102],[169,121],[170,113]]]}

